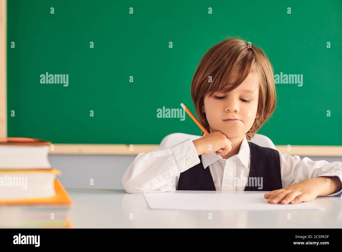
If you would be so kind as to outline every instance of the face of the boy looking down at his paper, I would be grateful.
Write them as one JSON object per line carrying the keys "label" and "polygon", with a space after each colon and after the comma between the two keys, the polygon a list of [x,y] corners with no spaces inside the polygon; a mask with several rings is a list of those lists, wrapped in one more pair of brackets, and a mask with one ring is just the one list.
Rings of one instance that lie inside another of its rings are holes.
{"label": "face of the boy looking down at his paper", "polygon": [[[250,73],[237,88],[229,93],[214,93],[204,98],[202,111],[206,113],[210,132],[221,131],[227,138],[238,138],[252,127],[257,116],[259,86],[257,73]],[[245,92],[250,90],[250,92]],[[249,102],[246,102],[249,101]],[[238,119],[227,121],[225,119]]]}

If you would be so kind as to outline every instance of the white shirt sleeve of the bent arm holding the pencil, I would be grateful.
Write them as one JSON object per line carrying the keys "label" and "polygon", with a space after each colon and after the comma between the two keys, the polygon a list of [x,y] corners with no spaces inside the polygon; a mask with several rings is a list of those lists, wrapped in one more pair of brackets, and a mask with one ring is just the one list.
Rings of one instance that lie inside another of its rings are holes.
{"label": "white shirt sleeve of the bent arm holding the pencil", "polygon": [[122,177],[128,193],[171,192],[177,176],[200,163],[194,143],[187,139],[171,148],[139,153]]}

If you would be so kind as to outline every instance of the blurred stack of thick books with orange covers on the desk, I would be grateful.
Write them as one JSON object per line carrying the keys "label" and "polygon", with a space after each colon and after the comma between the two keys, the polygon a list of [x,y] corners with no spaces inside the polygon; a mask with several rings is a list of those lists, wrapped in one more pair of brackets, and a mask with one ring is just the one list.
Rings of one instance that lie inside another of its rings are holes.
{"label": "blurred stack of thick books with orange covers on the desk", "polygon": [[0,228],[70,228],[72,201],[48,160],[51,142],[0,138]]}

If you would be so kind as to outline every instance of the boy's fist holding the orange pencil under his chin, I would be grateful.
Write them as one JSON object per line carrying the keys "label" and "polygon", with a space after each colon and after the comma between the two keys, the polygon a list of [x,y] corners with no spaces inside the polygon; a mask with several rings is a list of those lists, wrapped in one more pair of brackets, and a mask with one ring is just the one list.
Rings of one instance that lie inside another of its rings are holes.
{"label": "boy's fist holding the orange pencil under his chin", "polygon": [[216,152],[216,155],[225,155],[232,150],[232,142],[221,131],[214,131],[193,141],[198,155],[207,155]]}

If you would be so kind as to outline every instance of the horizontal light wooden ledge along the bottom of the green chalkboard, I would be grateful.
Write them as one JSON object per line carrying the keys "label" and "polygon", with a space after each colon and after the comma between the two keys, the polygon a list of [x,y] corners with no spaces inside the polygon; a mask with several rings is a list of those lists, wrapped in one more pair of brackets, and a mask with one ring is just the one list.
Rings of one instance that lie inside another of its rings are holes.
{"label": "horizontal light wooden ledge along the bottom of the green chalkboard", "polygon": [[[81,154],[81,155],[137,155],[159,148],[158,144],[54,144],[54,151],[50,154]],[[281,153],[292,156],[342,156],[342,146],[328,145],[291,145],[291,151],[287,151],[287,145],[276,145]]]}

